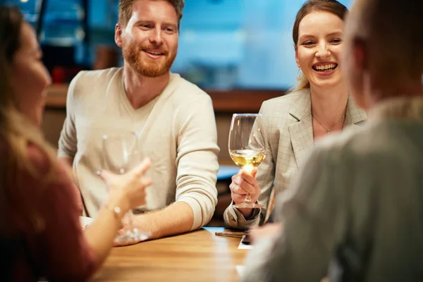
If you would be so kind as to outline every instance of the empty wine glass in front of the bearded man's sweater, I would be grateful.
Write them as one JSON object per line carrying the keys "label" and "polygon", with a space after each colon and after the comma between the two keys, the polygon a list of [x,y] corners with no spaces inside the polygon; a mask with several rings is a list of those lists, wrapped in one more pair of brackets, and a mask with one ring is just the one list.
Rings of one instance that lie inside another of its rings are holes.
{"label": "empty wine glass in front of the bearded man's sweater", "polygon": [[[123,174],[142,161],[140,140],[137,133],[115,133],[103,135],[103,167],[111,173]],[[128,211],[122,219],[123,230],[115,238],[116,243],[140,242],[149,238],[148,233],[133,227],[133,211]]]}

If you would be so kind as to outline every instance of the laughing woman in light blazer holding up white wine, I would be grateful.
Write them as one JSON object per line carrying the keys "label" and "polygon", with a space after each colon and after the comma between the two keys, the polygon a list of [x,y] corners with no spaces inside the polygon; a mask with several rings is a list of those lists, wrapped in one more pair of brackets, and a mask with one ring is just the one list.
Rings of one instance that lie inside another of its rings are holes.
{"label": "laughing woman in light blazer holding up white wine", "polygon": [[[298,86],[290,94],[262,104],[262,128],[267,135],[266,159],[252,174],[240,170],[233,176],[232,204],[224,219],[233,228],[264,223],[264,209],[236,209],[250,193],[267,205],[272,192],[285,190],[298,171],[314,140],[346,127],[357,127],[366,118],[348,94],[340,71],[344,18],[348,12],[334,0],[309,0],[300,8],[293,27]],[[256,174],[257,173],[257,174]]]}

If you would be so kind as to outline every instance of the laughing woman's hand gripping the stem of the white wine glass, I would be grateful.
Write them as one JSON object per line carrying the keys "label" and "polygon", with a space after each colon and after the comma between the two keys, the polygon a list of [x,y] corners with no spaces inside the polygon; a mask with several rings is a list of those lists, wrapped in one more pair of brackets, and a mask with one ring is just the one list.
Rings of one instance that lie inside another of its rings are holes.
{"label": "laughing woman's hand gripping the stem of the white wine glass", "polygon": [[[254,168],[251,173],[240,169],[235,176],[232,176],[232,183],[229,185],[231,189],[231,197],[235,204],[243,204],[245,197],[250,195],[251,202],[257,202],[261,193],[259,183],[255,178],[257,174],[257,168]],[[251,216],[251,208],[238,208],[243,214],[245,219]]]}

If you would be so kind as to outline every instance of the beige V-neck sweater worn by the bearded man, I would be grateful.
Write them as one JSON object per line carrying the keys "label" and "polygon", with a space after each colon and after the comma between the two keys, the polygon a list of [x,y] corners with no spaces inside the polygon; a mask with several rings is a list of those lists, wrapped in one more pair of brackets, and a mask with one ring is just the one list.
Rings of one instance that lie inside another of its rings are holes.
{"label": "beige V-neck sweater worn by the bearded man", "polygon": [[[219,168],[212,100],[199,87],[171,74],[164,91],[133,109],[123,87],[123,68],[82,71],[68,90],[67,116],[59,157],[73,158],[87,216],[96,216],[107,190],[97,176],[102,168],[102,135],[139,132],[143,157],[152,159],[147,204],[153,211],[186,202],[194,213],[192,230],[207,224],[217,202]],[[177,214],[175,216],[178,216]]]}

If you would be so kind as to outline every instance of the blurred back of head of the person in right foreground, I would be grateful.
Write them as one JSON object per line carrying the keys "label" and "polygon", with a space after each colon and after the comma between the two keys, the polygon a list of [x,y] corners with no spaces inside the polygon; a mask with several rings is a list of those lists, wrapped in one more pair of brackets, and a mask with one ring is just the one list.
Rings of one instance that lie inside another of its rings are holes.
{"label": "blurred back of head of the person in right foreground", "polygon": [[357,0],[350,30],[362,39],[372,83],[379,89],[400,88],[423,74],[423,1]]}

